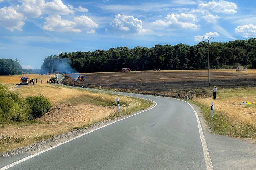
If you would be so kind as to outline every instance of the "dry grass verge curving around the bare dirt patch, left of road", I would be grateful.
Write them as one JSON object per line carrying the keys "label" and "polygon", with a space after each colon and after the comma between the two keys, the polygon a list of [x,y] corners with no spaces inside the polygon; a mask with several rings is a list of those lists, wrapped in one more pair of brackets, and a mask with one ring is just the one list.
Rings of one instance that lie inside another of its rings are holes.
{"label": "dry grass verge curving around the bare dirt patch, left of road", "polygon": [[[21,96],[43,94],[53,103],[87,103],[107,107],[116,107],[116,98],[119,98],[121,115],[128,115],[132,112],[144,110],[153,105],[149,100],[142,100],[134,97],[115,95],[111,93],[101,93],[98,91],[86,91],[79,88],[65,88],[62,86],[53,86],[49,84],[39,84],[37,86],[24,86],[17,91],[22,92]],[[6,138],[0,139],[0,152],[13,150],[18,147],[27,146],[32,143],[52,138],[58,134],[72,131],[74,129],[83,129],[97,122],[115,119],[118,112],[114,111],[109,116],[102,116],[97,119],[81,120],[80,122],[41,122],[38,120],[13,123],[0,129],[0,135],[7,134]],[[10,129],[6,133],[6,129]],[[25,129],[25,130],[23,130]]]}

